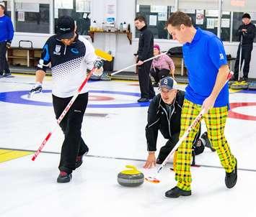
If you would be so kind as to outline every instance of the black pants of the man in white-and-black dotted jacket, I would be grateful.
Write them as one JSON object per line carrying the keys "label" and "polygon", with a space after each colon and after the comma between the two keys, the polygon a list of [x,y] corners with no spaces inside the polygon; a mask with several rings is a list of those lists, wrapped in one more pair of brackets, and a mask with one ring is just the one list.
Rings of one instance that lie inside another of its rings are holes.
{"label": "black pants of the man in white-and-black dotted jacket", "polygon": [[[53,108],[56,119],[69,104],[69,98],[59,98],[53,96]],[[81,123],[83,121],[84,112],[87,108],[88,93],[82,93],[74,101],[68,113],[64,116],[60,123],[61,129],[65,136],[61,148],[61,161],[58,169],[67,173],[71,173],[76,169],[76,157],[88,152],[88,147],[81,138]]]}

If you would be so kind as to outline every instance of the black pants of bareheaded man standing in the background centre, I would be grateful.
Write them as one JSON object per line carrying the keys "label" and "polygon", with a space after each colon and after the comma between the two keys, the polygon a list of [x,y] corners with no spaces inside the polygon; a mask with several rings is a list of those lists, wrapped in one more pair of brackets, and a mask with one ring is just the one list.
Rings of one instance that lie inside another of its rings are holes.
{"label": "black pants of bareheaded man standing in the background centre", "polygon": [[138,82],[141,88],[141,98],[153,98],[155,96],[151,78],[149,77],[151,62],[149,61],[138,66]]}

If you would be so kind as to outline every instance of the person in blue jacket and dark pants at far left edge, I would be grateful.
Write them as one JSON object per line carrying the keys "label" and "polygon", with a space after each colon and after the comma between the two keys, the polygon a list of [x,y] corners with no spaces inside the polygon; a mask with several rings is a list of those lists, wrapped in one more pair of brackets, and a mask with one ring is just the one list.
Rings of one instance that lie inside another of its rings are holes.
{"label": "person in blue jacket and dark pants at far left edge", "polygon": [[0,78],[9,77],[11,72],[6,60],[6,50],[11,47],[12,38],[14,36],[14,28],[12,20],[4,14],[5,6],[0,4]]}

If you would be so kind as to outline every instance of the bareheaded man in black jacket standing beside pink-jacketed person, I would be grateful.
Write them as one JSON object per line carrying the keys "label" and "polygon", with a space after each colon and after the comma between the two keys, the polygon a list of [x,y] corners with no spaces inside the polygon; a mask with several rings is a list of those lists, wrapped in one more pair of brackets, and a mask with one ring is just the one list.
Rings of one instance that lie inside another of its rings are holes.
{"label": "bareheaded man in black jacket standing beside pink-jacketed person", "polygon": [[134,19],[136,28],[141,31],[138,40],[138,81],[141,88],[141,98],[138,102],[147,102],[155,96],[154,88],[149,77],[149,71],[152,61],[144,63],[144,60],[153,57],[154,37],[152,32],[146,26],[146,19],[143,16],[138,16]]}

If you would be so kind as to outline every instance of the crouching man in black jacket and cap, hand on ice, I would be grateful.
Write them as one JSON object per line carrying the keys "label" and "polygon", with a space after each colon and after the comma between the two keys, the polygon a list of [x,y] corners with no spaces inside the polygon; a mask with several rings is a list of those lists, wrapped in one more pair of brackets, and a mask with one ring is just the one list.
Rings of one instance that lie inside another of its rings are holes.
{"label": "crouching man in black jacket and cap, hand on ice", "polygon": [[[157,164],[162,164],[165,158],[179,141],[180,116],[184,101],[185,92],[177,90],[175,81],[171,77],[163,78],[160,81],[160,93],[153,98],[149,105],[148,124],[146,125],[146,140],[149,155],[144,168],[150,168]],[[163,137],[168,139],[167,143],[160,149],[159,156],[155,157],[156,140],[158,131]],[[195,135],[193,142],[193,154],[200,154],[204,147],[211,148],[207,132],[200,138],[200,129]]]}

